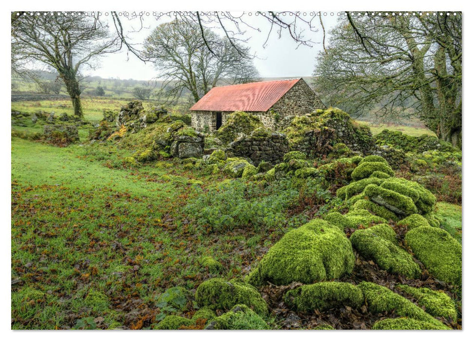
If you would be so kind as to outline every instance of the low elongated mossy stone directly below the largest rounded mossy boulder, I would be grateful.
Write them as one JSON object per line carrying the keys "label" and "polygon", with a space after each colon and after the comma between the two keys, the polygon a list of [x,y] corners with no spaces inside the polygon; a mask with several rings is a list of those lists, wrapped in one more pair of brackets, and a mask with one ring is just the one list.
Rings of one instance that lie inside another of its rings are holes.
{"label": "low elongated mossy stone directly below the largest rounded mossy boulder", "polygon": [[358,308],[363,302],[363,293],[350,283],[321,282],[287,291],[284,302],[302,312],[328,310],[345,305]]}

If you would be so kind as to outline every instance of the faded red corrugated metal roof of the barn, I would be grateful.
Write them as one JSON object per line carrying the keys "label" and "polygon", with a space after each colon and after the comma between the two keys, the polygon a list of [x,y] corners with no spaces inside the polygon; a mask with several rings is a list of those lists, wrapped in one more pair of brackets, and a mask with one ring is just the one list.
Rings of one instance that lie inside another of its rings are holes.
{"label": "faded red corrugated metal roof of the barn", "polygon": [[290,88],[302,78],[272,80],[211,89],[191,111],[268,111]]}

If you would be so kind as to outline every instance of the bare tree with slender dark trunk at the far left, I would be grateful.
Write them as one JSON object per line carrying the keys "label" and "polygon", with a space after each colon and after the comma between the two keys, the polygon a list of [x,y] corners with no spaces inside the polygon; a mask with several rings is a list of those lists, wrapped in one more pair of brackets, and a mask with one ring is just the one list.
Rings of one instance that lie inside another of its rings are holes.
{"label": "bare tree with slender dark trunk at the far left", "polygon": [[[18,14],[18,15],[17,15]],[[105,53],[118,51],[120,39],[110,36],[108,25],[98,16],[71,12],[25,12],[12,14],[12,65],[36,61],[57,70],[71,96],[74,114],[82,116],[79,69],[94,67],[92,61]],[[13,63],[15,59],[15,63]]]}

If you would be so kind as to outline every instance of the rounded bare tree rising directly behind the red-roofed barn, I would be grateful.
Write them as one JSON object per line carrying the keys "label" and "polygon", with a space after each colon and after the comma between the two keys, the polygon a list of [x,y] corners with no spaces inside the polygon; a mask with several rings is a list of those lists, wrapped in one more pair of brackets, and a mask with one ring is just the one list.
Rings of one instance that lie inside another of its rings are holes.
{"label": "rounded bare tree rising directly behind the red-roofed barn", "polygon": [[257,76],[251,60],[244,57],[248,49],[236,46],[238,50],[209,29],[201,31],[196,23],[173,20],[154,29],[146,39],[144,55],[155,63],[171,99],[187,89],[198,101],[217,82],[247,82]]}

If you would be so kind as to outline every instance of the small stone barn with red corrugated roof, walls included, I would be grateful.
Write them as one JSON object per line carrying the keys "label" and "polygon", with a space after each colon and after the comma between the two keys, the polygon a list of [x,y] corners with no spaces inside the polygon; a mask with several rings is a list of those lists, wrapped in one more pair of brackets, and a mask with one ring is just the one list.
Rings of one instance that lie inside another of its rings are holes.
{"label": "small stone barn with red corrugated roof, walls included", "polygon": [[235,111],[254,114],[266,128],[286,127],[294,116],[326,109],[303,78],[219,86],[191,108],[192,127],[200,132],[219,129]]}

